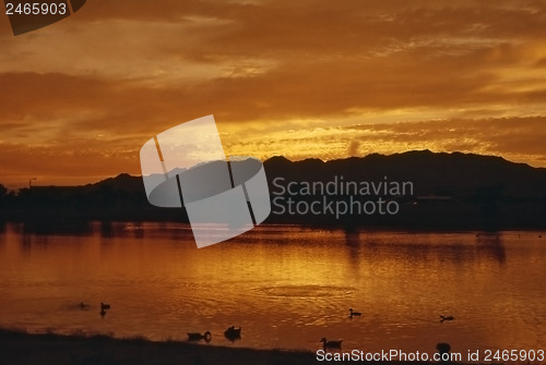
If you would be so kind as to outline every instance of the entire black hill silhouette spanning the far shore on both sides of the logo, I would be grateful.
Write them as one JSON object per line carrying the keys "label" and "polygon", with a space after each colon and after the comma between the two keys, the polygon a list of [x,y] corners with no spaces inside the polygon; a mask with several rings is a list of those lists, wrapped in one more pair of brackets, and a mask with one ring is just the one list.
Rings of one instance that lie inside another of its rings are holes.
{"label": "entire black hill silhouette spanning the far shore on both sides of the logo", "polygon": [[[236,162],[244,163],[244,162]],[[331,161],[290,161],[282,156],[263,162],[272,198],[281,194],[273,182],[328,183],[344,181],[411,182],[413,194],[387,196],[395,200],[395,216],[272,214],[269,222],[318,226],[388,226],[417,229],[527,229],[546,228],[546,169],[513,163],[500,157],[472,154],[435,154],[429,150],[390,156],[369,155]],[[281,179],[278,179],[281,178]],[[277,184],[278,185],[278,184]],[[322,198],[295,194],[296,203]],[[359,196],[377,199],[381,194]],[[349,203],[349,196],[329,197]],[[363,202],[364,202],[363,200]],[[141,177],[115,178],[75,187],[23,188],[16,196],[0,195],[0,220],[174,220],[187,221],[185,209],[151,206]],[[304,204],[304,203],[302,203]]]}

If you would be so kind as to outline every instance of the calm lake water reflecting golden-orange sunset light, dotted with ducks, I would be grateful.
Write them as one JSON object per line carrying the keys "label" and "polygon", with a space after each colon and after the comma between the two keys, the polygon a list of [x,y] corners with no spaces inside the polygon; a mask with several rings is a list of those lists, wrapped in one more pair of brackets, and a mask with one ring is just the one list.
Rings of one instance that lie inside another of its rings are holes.
{"label": "calm lake water reflecting golden-orange sunset light, dotted with ducks", "polygon": [[[198,250],[185,224],[8,224],[0,327],[153,340],[210,330],[211,344],[262,349],[316,350],[322,337],[345,350],[545,349],[546,234],[478,233],[262,226]],[[242,327],[235,343],[230,325]]]}

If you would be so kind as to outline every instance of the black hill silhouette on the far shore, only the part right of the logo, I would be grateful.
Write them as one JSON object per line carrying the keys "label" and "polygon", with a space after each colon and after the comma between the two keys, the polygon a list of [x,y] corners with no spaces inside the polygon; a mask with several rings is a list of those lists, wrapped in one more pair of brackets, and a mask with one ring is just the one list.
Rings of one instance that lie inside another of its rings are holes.
{"label": "black hill silhouette on the far shore, only the part right of the logo", "polygon": [[[335,177],[339,180],[343,177],[345,182],[394,181],[411,182],[413,186],[412,196],[384,196],[387,200],[395,200],[400,207],[393,216],[377,212],[340,217],[332,214],[283,214],[271,215],[270,222],[425,230],[546,228],[546,169],[510,162],[500,157],[420,150],[331,161],[306,159],[293,162],[280,156],[270,158],[264,166],[273,199],[275,194],[283,193],[288,181],[299,182],[294,186],[301,186],[301,182],[327,184]],[[283,183],[272,184],[276,178],[283,178]],[[281,206],[286,206],[288,195],[280,198]],[[320,200],[319,195],[290,197],[295,204],[310,204]],[[379,197],[360,197],[360,202],[377,200]],[[353,202],[349,196],[332,199],[345,202],[347,206]]]}

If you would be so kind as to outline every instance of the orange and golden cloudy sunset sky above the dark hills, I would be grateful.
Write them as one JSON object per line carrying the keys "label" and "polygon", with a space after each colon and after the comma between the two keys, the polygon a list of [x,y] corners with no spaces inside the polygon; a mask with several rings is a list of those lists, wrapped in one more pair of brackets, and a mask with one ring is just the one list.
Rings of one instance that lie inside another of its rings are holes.
{"label": "orange and golden cloudy sunset sky above the dark hills", "polygon": [[412,149],[546,167],[546,1],[99,1],[13,36],[0,14],[0,183],[140,174],[214,114],[226,155]]}

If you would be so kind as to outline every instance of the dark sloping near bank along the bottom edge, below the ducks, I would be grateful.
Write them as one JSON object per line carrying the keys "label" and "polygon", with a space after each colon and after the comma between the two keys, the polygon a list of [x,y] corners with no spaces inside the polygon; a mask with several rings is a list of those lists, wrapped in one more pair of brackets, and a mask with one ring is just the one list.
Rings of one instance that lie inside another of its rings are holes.
{"label": "dark sloping near bank along the bottom edge, below the ducks", "polygon": [[[324,363],[371,364],[319,362],[314,353],[306,351],[223,348],[180,341],[114,339],[108,336],[31,334],[19,330],[0,329],[0,365],[317,365]],[[402,363],[373,364],[401,365]],[[411,364],[422,363],[412,362]],[[442,363],[442,365],[447,364]]]}

